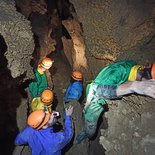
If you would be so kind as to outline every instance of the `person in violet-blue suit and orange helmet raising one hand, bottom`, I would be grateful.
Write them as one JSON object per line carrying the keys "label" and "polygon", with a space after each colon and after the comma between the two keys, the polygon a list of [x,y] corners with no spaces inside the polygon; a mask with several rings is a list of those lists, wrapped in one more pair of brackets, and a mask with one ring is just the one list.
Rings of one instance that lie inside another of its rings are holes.
{"label": "person in violet-blue suit and orange helmet raising one hand, bottom", "polygon": [[32,112],[27,120],[28,126],[22,130],[15,139],[15,145],[28,144],[32,155],[61,155],[62,148],[70,142],[73,130],[71,115],[73,107],[65,109],[64,132],[53,132],[55,114],[47,110],[36,110]]}

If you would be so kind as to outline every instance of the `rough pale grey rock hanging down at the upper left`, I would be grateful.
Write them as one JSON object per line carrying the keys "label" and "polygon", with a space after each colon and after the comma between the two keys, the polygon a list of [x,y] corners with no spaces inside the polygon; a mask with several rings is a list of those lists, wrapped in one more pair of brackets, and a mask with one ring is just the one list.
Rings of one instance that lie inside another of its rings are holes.
{"label": "rough pale grey rock hanging down at the upper left", "polygon": [[34,50],[34,41],[30,22],[16,11],[12,1],[1,0],[0,6],[0,34],[7,45],[5,53],[8,61],[7,67],[13,78],[24,73],[26,78],[32,78],[30,61]]}

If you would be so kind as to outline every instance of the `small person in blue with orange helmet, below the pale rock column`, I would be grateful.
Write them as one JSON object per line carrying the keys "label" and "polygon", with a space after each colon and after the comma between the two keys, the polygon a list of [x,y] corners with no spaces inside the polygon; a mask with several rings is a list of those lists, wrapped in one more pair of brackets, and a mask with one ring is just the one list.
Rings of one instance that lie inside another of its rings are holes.
{"label": "small person in blue with orange helmet, below the pale rock column", "polygon": [[74,107],[72,118],[73,118],[73,124],[75,129],[75,132],[74,132],[75,137],[76,137],[76,134],[80,132],[80,130],[82,130],[82,125],[83,125],[82,108],[79,102],[83,93],[82,82],[83,82],[82,72],[73,71],[71,74],[70,84],[66,89],[65,96],[63,99],[64,108],[69,107],[70,105]]}

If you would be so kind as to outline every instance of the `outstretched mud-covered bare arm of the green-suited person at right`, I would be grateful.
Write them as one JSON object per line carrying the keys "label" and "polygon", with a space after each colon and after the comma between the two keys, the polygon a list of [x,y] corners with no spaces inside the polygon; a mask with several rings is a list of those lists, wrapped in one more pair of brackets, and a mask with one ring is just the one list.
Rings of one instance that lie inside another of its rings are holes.
{"label": "outstretched mud-covered bare arm of the green-suited person at right", "polygon": [[137,93],[155,98],[155,80],[128,81],[121,84],[116,89],[116,94],[118,97],[131,93]]}

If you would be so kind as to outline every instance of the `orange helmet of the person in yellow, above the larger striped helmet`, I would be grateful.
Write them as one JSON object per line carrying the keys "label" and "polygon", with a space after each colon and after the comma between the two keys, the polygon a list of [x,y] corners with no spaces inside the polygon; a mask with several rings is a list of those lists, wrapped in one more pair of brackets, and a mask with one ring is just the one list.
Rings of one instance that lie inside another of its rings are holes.
{"label": "orange helmet of the person in yellow, above the larger striped helmet", "polygon": [[53,91],[46,89],[41,94],[41,101],[44,103],[44,105],[50,105],[53,102],[54,93]]}

